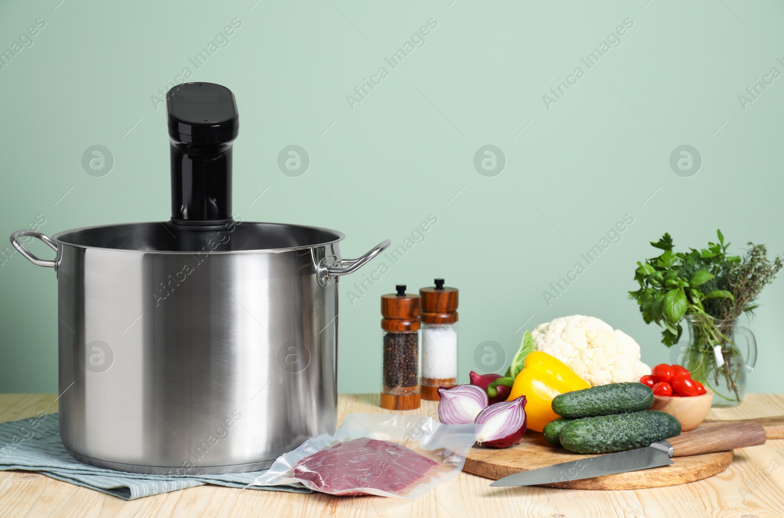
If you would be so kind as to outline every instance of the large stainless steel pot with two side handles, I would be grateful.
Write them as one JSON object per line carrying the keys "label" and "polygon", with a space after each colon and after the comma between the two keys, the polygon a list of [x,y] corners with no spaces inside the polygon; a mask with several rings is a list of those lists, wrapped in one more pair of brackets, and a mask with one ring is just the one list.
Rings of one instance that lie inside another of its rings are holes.
{"label": "large stainless steel pot with two side handles", "polygon": [[335,230],[175,219],[11,235],[57,274],[60,436],[75,458],[137,473],[265,469],[334,431],[337,279],[390,241],[342,259]]}

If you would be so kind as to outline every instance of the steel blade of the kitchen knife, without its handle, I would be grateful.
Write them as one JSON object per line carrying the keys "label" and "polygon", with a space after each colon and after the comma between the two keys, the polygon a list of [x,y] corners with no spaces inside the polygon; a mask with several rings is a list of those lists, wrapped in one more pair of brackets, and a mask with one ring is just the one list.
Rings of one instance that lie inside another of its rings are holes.
{"label": "steel blade of the kitchen knife, without its handle", "polygon": [[660,440],[648,447],[636,450],[616,451],[596,457],[580,458],[576,461],[561,462],[544,466],[543,468],[529,469],[521,473],[504,476],[495,480],[492,487],[510,486],[535,486],[538,484],[555,484],[569,480],[581,480],[593,476],[614,475],[615,473],[628,473],[640,469],[658,468],[662,465],[673,464],[670,457],[673,447],[666,440]]}

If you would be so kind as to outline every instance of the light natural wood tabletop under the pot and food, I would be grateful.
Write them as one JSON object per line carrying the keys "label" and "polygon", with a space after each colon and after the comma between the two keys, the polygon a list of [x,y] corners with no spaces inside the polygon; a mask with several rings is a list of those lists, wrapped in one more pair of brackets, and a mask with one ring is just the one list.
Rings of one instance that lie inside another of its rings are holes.
{"label": "light natural wood tabletop under the pot and food", "polygon": [[[377,394],[343,395],[340,416],[380,413]],[[53,413],[53,394],[0,395],[0,422]],[[436,415],[423,401],[417,412]],[[784,395],[748,394],[737,408],[711,411],[709,418],[784,415]],[[419,500],[332,497],[201,486],[125,502],[84,487],[24,471],[0,472],[0,517],[51,516],[525,516],[577,518],[781,518],[784,516],[784,440],[735,451],[729,469],[692,484],[637,491],[573,491],[545,487],[488,487],[490,480],[461,473]]]}

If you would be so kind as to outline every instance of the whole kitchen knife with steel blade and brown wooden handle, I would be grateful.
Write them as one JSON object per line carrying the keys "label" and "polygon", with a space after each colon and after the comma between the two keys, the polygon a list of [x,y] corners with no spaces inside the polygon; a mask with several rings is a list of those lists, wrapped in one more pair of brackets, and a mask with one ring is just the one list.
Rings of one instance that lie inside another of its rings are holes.
{"label": "whole kitchen knife with steel blade and brown wooden handle", "polygon": [[581,480],[593,476],[628,473],[673,464],[670,457],[703,455],[717,451],[728,451],[737,447],[757,446],[758,444],[765,444],[765,430],[755,422],[711,426],[710,428],[684,432],[669,440],[660,440],[648,447],[636,450],[617,451],[514,473],[514,475],[495,480],[490,485],[494,487],[535,486]]}

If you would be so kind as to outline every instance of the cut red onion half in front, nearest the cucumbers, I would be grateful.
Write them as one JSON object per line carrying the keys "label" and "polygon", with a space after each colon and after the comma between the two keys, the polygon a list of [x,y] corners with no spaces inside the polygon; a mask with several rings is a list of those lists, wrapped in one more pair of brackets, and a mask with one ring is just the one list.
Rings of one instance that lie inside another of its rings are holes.
{"label": "cut red onion half in front, nearest the cucumbers", "polygon": [[477,443],[499,448],[520,444],[528,428],[525,403],[525,396],[521,396],[512,401],[492,404],[479,412],[474,419],[477,425],[481,425]]}

